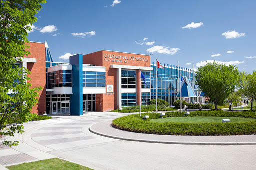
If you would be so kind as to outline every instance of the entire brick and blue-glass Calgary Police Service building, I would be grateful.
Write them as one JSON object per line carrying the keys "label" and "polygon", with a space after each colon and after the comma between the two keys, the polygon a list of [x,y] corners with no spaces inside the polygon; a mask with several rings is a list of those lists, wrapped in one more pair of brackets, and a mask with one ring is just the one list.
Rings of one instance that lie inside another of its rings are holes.
{"label": "entire brick and blue-glass Calgary Police Service building", "polygon": [[[177,97],[178,70],[189,83],[190,93],[183,100],[203,102],[200,91],[193,82],[193,70],[174,65],[164,65],[157,69],[150,63],[150,56],[126,52],[100,50],[90,54],[76,54],[69,57],[69,63],[53,62],[47,43],[31,42],[31,55],[24,58],[21,66],[26,66],[31,74],[32,87],[40,86],[39,102],[32,112],[39,115],[70,113],[82,115],[90,111],[110,111],[125,106],[147,105],[150,99],[163,100]],[[140,72],[146,85],[139,79]]]}

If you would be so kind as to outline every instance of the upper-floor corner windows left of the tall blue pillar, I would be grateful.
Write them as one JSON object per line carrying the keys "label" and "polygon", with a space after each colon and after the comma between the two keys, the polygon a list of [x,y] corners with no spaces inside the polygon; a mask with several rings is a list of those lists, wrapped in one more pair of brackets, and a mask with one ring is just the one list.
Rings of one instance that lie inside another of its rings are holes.
{"label": "upper-floor corner windows left of the tall blue pillar", "polygon": [[46,88],[72,87],[72,70],[46,72]]}

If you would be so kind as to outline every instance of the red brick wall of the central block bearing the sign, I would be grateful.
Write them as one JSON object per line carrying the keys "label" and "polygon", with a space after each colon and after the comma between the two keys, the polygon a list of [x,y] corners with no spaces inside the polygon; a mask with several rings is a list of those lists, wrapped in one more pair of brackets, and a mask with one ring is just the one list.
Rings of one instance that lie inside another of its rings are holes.
{"label": "red brick wall of the central block bearing the sign", "polygon": [[[107,55],[120,56],[120,59],[108,58]],[[134,60],[124,59],[123,56],[128,56],[130,57],[130,59],[133,59],[134,57]],[[147,58],[147,61],[136,61],[135,60],[136,57]],[[124,61],[127,61],[127,62],[124,62]],[[96,66],[106,67],[106,85],[113,85],[113,93],[96,95],[96,111],[110,111],[110,110],[116,109],[116,68],[110,68],[110,65],[117,64],[117,65],[150,67],[150,56],[101,50],[94,53],[83,55],[82,63],[94,64]],[[138,76],[138,74],[139,74],[138,71],[136,71],[136,76]],[[138,83],[138,81],[139,80],[137,79],[136,83]],[[138,84],[136,87],[138,88]],[[139,101],[138,97],[139,96],[137,95],[137,101]],[[99,106],[100,102],[101,102],[101,106]]]}

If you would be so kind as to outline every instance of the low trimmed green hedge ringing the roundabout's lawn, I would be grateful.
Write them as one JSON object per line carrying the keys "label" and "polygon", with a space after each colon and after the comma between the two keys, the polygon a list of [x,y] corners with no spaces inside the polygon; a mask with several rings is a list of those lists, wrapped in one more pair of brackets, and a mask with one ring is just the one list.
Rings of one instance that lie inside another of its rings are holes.
{"label": "low trimmed green hedge ringing the roundabout's lawn", "polygon": [[[164,117],[185,117],[185,112],[168,112]],[[142,117],[149,115],[149,119]],[[187,116],[218,116],[218,117],[244,117],[256,118],[254,112],[227,112],[227,111],[193,111]],[[151,122],[158,119],[159,114],[142,113],[128,115],[113,120],[112,126],[121,130],[160,134],[160,135],[249,135],[256,134],[256,120],[236,123],[177,123],[177,122]]]}

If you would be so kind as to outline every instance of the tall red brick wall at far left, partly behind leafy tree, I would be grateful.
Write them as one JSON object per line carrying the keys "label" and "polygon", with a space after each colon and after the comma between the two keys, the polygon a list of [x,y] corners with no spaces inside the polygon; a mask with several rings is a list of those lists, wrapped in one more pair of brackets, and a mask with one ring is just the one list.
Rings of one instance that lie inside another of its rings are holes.
{"label": "tall red brick wall at far left, partly behind leafy tree", "polygon": [[43,89],[38,93],[38,103],[32,107],[31,113],[42,115],[46,110],[46,78],[45,78],[45,45],[44,43],[29,43],[30,55],[24,56],[25,58],[36,58],[36,63],[27,63],[27,69],[31,72],[28,75],[31,80],[31,88],[42,87]]}

